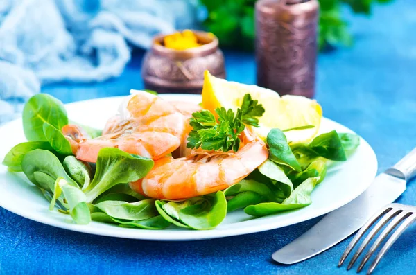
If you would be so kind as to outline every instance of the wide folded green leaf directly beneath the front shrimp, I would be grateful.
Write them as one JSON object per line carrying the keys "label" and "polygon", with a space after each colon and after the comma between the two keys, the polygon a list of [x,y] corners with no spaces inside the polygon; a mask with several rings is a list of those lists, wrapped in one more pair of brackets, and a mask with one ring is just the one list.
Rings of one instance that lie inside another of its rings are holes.
{"label": "wide folded green leaf directly beneath the front shrimp", "polygon": [[156,207],[168,222],[198,230],[214,229],[227,215],[227,200],[222,191],[182,202],[159,200]]}

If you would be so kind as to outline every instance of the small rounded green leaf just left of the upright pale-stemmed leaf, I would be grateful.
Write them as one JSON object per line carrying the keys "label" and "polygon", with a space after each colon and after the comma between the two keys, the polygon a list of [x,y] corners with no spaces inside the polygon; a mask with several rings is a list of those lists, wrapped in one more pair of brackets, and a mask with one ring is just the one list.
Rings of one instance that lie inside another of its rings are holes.
{"label": "small rounded green leaf just left of the upright pale-stemmed leaf", "polygon": [[76,181],[82,190],[85,190],[91,181],[91,166],[87,162],[80,161],[73,156],[66,157],[62,164],[68,175]]}

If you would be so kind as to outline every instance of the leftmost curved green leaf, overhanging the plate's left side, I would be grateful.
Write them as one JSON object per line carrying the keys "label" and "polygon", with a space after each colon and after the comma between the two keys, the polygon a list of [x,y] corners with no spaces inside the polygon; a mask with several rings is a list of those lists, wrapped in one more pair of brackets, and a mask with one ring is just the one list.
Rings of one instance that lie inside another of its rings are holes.
{"label": "leftmost curved green leaf, overhanging the plate's left side", "polygon": [[27,152],[35,149],[53,150],[49,142],[46,141],[28,141],[15,145],[3,159],[3,165],[8,166],[12,172],[21,172],[21,161]]}

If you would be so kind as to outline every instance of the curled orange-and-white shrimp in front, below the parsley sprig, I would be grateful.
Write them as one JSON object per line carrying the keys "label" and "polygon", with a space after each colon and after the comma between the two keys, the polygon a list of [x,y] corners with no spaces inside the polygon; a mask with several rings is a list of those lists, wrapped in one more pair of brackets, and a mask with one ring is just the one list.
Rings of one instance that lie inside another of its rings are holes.
{"label": "curled orange-and-white shrimp in front, below the parsley sprig", "polygon": [[152,170],[130,187],[155,199],[187,199],[207,195],[236,184],[268,158],[261,139],[246,129],[237,152],[194,150],[188,157],[163,157]]}

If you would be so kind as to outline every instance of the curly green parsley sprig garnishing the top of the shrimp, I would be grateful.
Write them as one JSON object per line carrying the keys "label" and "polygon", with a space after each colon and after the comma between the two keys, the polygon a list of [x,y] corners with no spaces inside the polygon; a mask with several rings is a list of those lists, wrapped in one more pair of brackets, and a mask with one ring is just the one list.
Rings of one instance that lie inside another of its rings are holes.
{"label": "curly green parsley sprig garnishing the top of the shrimp", "polygon": [[250,94],[245,94],[241,108],[236,110],[216,108],[216,116],[208,110],[192,114],[189,124],[193,127],[189,133],[187,148],[202,148],[204,150],[221,150],[227,152],[239,150],[239,134],[245,125],[259,127],[259,117],[264,108],[257,100],[252,100]]}

